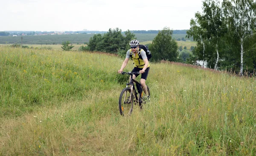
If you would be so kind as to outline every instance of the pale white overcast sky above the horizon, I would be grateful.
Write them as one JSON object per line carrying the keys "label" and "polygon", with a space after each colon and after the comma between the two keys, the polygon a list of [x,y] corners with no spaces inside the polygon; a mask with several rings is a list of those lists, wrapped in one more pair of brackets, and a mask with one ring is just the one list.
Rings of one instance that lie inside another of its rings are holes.
{"label": "pale white overcast sky above the horizon", "polygon": [[[189,29],[201,0],[1,0],[0,31]],[[146,24],[147,23],[147,24]]]}

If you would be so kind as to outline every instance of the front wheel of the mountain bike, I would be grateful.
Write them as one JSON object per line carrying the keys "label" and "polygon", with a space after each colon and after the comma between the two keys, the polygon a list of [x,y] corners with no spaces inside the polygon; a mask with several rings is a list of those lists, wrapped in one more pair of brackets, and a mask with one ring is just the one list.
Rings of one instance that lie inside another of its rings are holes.
{"label": "front wheel of the mountain bike", "polygon": [[119,97],[119,111],[122,116],[128,116],[133,110],[134,97],[131,95],[131,88],[126,87],[122,90]]}

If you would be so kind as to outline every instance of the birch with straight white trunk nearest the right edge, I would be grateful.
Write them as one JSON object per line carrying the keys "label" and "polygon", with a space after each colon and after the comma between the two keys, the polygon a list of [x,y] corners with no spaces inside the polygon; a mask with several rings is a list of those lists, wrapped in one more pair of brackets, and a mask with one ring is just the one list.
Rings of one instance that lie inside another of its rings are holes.
{"label": "birch with straight white trunk nearest the right edge", "polygon": [[240,76],[243,75],[244,53],[255,48],[255,44],[247,44],[250,38],[256,35],[256,3],[254,0],[225,0],[223,2],[224,13],[227,17],[228,31],[235,34],[240,44]]}

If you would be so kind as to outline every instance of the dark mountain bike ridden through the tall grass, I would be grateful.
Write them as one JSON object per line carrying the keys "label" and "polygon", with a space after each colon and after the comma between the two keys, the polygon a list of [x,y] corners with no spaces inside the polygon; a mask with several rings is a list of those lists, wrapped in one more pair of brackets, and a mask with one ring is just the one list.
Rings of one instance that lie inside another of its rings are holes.
{"label": "dark mountain bike ridden through the tall grass", "polygon": [[140,72],[122,72],[121,74],[130,75],[129,83],[126,84],[126,87],[122,90],[118,101],[120,114],[127,116],[131,115],[134,104],[140,106],[140,109],[142,109],[142,105],[150,101],[150,91],[147,86],[148,96],[143,96],[143,88],[140,82],[132,78],[133,75],[140,74]]}

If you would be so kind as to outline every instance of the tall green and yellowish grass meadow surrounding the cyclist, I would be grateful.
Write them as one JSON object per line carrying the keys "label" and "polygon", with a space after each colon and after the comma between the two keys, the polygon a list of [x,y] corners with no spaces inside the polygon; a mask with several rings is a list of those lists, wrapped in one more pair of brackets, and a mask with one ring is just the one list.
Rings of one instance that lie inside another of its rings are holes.
{"label": "tall green and yellowish grass meadow surrounding the cyclist", "polygon": [[0,155],[256,154],[255,78],[150,63],[150,104],[123,117],[121,64],[99,52],[0,46]]}

